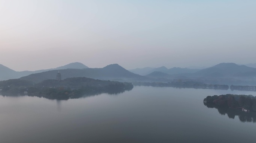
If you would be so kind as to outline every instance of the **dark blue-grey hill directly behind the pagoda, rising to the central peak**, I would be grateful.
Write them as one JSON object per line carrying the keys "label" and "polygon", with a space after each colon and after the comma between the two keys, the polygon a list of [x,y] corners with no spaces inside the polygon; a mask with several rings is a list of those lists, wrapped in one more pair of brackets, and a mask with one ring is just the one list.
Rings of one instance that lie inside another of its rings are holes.
{"label": "dark blue-grey hill directly behind the pagoda, rising to the central peak", "polygon": [[56,74],[60,71],[62,79],[70,77],[89,77],[93,79],[103,80],[146,80],[147,77],[132,73],[118,64],[110,64],[103,68],[87,68],[87,69],[63,69],[51,70],[42,73],[30,74],[21,77],[21,79],[32,82],[41,82],[46,79],[56,79]]}

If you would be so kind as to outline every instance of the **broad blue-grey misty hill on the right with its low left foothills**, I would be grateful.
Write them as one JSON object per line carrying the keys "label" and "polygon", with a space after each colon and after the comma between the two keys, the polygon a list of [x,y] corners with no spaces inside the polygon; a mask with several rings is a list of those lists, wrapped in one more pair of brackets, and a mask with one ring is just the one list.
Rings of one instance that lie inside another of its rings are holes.
{"label": "broad blue-grey misty hill on the right with its low left foothills", "polygon": [[[234,84],[234,85],[255,85],[256,69],[235,63],[220,63],[213,67],[189,73],[186,68],[171,68],[173,74],[164,74],[164,72],[152,72],[147,74],[151,78],[164,79],[191,79],[210,84]],[[182,70],[182,71],[179,71]],[[187,70],[187,71],[186,71]],[[182,73],[186,71],[187,73]],[[167,72],[167,71],[165,71]],[[194,72],[194,73],[193,73]],[[178,73],[178,74],[175,74]]]}

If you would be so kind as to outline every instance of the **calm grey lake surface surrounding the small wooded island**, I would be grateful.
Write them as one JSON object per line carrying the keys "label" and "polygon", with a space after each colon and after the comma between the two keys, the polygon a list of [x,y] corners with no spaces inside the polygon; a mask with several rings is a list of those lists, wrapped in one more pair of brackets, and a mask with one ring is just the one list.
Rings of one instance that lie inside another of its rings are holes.
{"label": "calm grey lake surface surrounding the small wooded island", "polygon": [[0,95],[1,143],[255,142],[256,124],[220,114],[206,96],[256,92],[135,86],[118,95],[50,100]]}

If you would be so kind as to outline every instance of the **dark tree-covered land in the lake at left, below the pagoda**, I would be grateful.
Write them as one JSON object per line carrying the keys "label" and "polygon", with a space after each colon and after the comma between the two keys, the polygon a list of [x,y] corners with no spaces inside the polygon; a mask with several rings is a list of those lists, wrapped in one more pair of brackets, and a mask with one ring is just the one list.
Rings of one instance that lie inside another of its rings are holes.
{"label": "dark tree-covered land in the lake at left, below the pagoda", "polygon": [[132,83],[98,80],[86,77],[72,77],[64,80],[48,79],[40,83],[27,80],[10,79],[0,82],[2,95],[38,96],[48,99],[79,98],[99,93],[117,94],[131,90]]}

